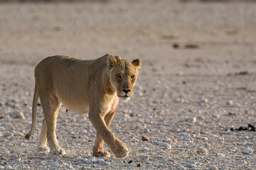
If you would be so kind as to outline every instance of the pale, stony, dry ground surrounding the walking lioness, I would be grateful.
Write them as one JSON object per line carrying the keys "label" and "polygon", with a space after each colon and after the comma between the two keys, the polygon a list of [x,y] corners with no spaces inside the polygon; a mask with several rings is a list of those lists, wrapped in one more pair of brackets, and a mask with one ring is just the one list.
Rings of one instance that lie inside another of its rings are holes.
{"label": "pale, stony, dry ground surrounding the walking lioness", "polygon": [[[255,11],[241,1],[0,4],[0,169],[255,169],[255,132],[226,132],[256,125]],[[93,159],[94,128],[65,107],[57,136],[67,156],[37,152],[41,107],[31,140],[24,137],[36,64],[106,53],[142,60],[134,96],[110,127],[129,157]],[[12,118],[21,112],[26,119]]]}

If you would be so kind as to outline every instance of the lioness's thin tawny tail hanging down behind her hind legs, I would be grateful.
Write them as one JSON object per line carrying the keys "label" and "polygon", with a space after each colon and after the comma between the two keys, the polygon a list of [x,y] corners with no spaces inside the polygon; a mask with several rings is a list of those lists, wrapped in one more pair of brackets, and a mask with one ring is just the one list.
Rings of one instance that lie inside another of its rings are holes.
{"label": "lioness's thin tawny tail hanging down behind her hind legs", "polygon": [[32,125],[31,125],[31,131],[26,135],[26,139],[29,140],[31,135],[33,134],[33,131],[36,126],[36,106],[38,102],[38,89],[37,86],[35,85],[35,91],[33,95],[33,106],[32,106]]}

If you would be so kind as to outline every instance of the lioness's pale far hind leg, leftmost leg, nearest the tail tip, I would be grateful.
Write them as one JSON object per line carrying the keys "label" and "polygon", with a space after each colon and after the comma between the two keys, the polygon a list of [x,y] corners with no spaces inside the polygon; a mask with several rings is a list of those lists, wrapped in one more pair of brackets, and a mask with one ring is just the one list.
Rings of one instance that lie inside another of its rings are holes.
{"label": "lioness's pale far hind leg, leftmost leg, nearest the tail tip", "polygon": [[40,133],[39,141],[38,141],[38,151],[39,152],[49,152],[50,149],[47,147],[47,125],[46,119],[43,119],[42,130]]}

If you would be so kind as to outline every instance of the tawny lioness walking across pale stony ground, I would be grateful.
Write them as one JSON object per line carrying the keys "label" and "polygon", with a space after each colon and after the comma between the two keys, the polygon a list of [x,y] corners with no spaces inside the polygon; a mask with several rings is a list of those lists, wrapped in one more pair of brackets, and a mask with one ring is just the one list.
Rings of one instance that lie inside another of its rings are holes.
{"label": "tawny lioness walking across pale stony ground", "polygon": [[55,134],[58,111],[63,104],[68,111],[80,115],[89,113],[90,122],[97,131],[93,156],[109,156],[103,149],[106,142],[116,157],[127,157],[127,147],[114,137],[109,127],[119,99],[127,101],[132,96],[141,64],[139,59],[129,62],[113,55],[104,55],[96,60],[65,56],[42,60],[35,69],[32,125],[26,139],[31,137],[35,128],[36,106],[40,97],[45,118],[38,141],[39,151],[49,151],[48,141],[51,153],[65,154]]}

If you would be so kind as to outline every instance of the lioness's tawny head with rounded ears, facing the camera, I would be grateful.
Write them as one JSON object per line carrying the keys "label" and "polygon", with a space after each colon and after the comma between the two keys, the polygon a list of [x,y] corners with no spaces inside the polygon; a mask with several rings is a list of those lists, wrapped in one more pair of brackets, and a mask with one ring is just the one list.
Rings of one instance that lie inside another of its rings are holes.
{"label": "lioness's tawny head with rounded ears, facing the camera", "polygon": [[142,65],[139,59],[132,62],[122,60],[119,56],[107,57],[107,67],[110,69],[110,83],[117,91],[117,96],[128,101],[133,95],[133,87],[137,81],[138,69]]}

